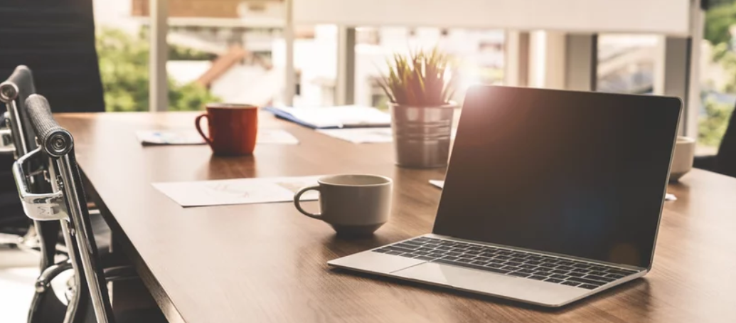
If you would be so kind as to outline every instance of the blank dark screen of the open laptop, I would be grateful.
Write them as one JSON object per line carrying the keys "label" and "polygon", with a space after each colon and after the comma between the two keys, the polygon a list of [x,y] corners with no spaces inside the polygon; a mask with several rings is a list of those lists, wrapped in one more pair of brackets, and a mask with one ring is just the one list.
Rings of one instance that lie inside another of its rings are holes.
{"label": "blank dark screen of the open laptop", "polygon": [[649,268],[681,108],[471,88],[433,233]]}

